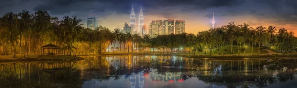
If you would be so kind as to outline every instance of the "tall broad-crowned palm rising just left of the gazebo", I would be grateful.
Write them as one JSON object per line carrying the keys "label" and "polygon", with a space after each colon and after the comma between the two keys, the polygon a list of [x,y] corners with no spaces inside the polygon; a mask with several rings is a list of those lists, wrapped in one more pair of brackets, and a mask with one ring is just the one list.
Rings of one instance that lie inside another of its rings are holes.
{"label": "tall broad-crowned palm rising just left of the gazebo", "polygon": [[36,27],[35,32],[37,35],[39,35],[39,40],[37,44],[37,57],[38,57],[42,34],[44,32],[47,32],[49,27],[51,27],[49,13],[46,10],[38,10],[37,12],[35,12],[34,22],[35,22],[34,27]]}

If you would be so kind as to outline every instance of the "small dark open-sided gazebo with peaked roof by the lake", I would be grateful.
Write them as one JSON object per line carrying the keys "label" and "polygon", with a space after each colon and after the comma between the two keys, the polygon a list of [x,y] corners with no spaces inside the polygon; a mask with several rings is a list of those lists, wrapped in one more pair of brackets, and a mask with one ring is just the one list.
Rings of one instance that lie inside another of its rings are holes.
{"label": "small dark open-sided gazebo with peaked roof by the lake", "polygon": [[42,54],[45,54],[45,50],[48,51],[48,55],[58,54],[61,51],[61,47],[54,44],[47,44],[41,47],[43,50]]}

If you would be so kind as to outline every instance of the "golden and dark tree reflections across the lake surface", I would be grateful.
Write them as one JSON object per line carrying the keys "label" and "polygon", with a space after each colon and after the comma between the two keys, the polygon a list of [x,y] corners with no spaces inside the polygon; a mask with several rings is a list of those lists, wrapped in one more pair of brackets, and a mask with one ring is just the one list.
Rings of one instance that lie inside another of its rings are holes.
{"label": "golden and dark tree reflections across the lake surface", "polygon": [[[0,88],[9,86],[21,88],[24,84],[27,84],[28,88],[80,88],[85,81],[119,80],[122,76],[129,78],[142,73],[145,75],[157,74],[159,77],[168,73],[184,81],[194,77],[206,84],[227,88],[249,88],[252,86],[263,88],[276,84],[278,80],[287,82],[289,79],[295,79],[294,74],[296,74],[297,67],[295,59],[276,60],[261,64],[265,62],[262,61],[259,63],[260,67],[266,65],[267,71],[255,71],[255,69],[250,71],[252,66],[246,65],[247,63],[230,65],[230,60],[193,60],[179,57],[175,57],[176,59],[173,60],[171,56],[156,56],[154,59],[142,56],[131,56],[133,58],[124,56],[116,59],[115,57],[109,57],[109,60],[104,56],[98,56],[88,57],[84,61],[0,64]],[[132,63],[133,61],[136,63]],[[127,65],[128,62],[133,65]],[[118,64],[120,65],[117,66]],[[245,71],[231,69],[240,68],[240,64],[245,64],[247,69]],[[214,70],[220,65],[222,67],[220,72]],[[272,75],[275,71],[271,70],[278,70],[279,73],[276,77]]]}

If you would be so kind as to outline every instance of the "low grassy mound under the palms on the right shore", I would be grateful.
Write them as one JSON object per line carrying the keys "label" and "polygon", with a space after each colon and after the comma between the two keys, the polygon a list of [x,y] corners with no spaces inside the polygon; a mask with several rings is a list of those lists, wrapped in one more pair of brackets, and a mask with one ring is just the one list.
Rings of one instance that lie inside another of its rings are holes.
{"label": "low grassy mound under the palms on the right shore", "polygon": [[[234,47],[234,54],[238,54],[237,45],[233,45],[233,47]],[[242,48],[244,48],[244,46],[242,46]],[[227,54],[231,54],[231,45],[222,46],[223,52],[226,53],[226,51],[224,49],[227,49]],[[251,46],[247,46],[245,51],[247,54],[251,54]],[[214,53],[219,53],[218,49],[214,50]],[[261,54],[264,54],[264,53],[268,53],[268,52],[266,50],[262,49]],[[242,52],[241,54],[245,54],[245,53]],[[253,46],[252,54],[258,54],[257,46]]]}

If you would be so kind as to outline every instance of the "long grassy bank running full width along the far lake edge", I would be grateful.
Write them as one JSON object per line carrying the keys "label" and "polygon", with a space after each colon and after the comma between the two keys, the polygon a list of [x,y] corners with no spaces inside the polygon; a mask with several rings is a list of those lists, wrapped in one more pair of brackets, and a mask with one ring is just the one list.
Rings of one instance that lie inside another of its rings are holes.
{"label": "long grassy bank running full width along the far lake edge", "polygon": [[94,53],[84,53],[78,54],[76,53],[75,56],[69,55],[40,55],[37,57],[36,54],[29,54],[26,57],[23,57],[23,54],[17,54],[16,57],[13,55],[3,55],[0,56],[0,62],[22,62],[22,61],[75,61],[75,60],[83,60],[85,56],[98,56],[98,55],[174,55],[174,56],[183,56],[187,58],[195,58],[195,59],[273,59],[273,58],[297,58],[297,54],[212,54],[212,55],[205,55],[205,54],[196,54],[193,53],[184,54],[180,53],[160,53],[160,52],[122,52],[122,53],[112,53],[112,52],[105,52],[103,54],[94,54]]}

